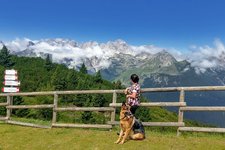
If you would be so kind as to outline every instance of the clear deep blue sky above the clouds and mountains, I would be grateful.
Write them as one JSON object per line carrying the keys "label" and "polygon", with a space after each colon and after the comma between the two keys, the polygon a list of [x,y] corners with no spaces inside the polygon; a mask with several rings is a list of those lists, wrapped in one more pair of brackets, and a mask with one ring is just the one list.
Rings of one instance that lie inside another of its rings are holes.
{"label": "clear deep blue sky above the clouds and mountains", "polygon": [[0,40],[123,39],[187,49],[225,41],[224,0],[1,0]]}

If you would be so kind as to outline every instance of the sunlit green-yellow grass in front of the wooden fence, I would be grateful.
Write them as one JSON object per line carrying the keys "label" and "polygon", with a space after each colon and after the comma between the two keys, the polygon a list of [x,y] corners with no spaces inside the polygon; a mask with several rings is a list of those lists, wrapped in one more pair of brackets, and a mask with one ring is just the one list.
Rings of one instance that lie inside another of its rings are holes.
{"label": "sunlit green-yellow grass in front of the wooden fence", "polygon": [[143,141],[129,140],[123,145],[114,144],[116,132],[97,129],[52,128],[39,129],[0,123],[0,149],[57,149],[57,150],[225,150],[225,135],[146,131]]}

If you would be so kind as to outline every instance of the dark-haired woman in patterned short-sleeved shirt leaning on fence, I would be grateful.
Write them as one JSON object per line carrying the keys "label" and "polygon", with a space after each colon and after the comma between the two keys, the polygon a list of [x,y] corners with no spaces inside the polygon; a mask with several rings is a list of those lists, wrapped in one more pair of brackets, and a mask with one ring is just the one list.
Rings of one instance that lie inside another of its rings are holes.
{"label": "dark-haired woman in patterned short-sleeved shirt leaning on fence", "polygon": [[125,94],[127,98],[127,104],[131,106],[130,111],[133,115],[140,104],[140,85],[138,83],[139,77],[136,74],[130,76],[132,86],[126,88]]}

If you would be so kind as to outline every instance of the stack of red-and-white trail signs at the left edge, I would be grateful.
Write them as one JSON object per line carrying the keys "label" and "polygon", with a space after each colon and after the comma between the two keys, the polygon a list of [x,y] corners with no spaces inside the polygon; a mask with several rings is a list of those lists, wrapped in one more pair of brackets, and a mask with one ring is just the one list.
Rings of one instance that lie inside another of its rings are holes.
{"label": "stack of red-and-white trail signs at the left edge", "polygon": [[20,86],[20,81],[18,81],[17,71],[14,69],[11,70],[5,70],[5,81],[3,84],[7,87],[2,88],[2,92],[6,93],[16,93],[19,92],[20,89],[18,86]]}

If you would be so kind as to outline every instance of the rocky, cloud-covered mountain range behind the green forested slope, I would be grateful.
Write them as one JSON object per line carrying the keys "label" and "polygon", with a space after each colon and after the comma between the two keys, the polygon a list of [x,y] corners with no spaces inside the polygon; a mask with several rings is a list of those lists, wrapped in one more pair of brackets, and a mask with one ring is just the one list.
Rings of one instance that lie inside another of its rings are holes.
{"label": "rocky, cloud-covered mountain range behind the green forested slope", "polygon": [[[103,78],[120,80],[129,85],[129,76],[140,76],[142,87],[220,86],[225,85],[225,48],[220,41],[215,47],[199,47],[191,53],[164,49],[154,45],[133,46],[123,40],[78,43],[68,39],[32,41],[16,39],[5,44],[12,54],[46,58],[78,69],[84,63],[90,74],[101,70]],[[179,93],[148,93],[151,101],[178,101]],[[187,92],[186,102],[195,106],[223,106],[225,92]],[[177,111],[176,109],[171,109]],[[225,127],[225,114],[220,112],[185,113],[185,117]]]}

